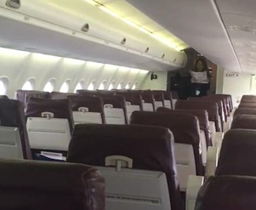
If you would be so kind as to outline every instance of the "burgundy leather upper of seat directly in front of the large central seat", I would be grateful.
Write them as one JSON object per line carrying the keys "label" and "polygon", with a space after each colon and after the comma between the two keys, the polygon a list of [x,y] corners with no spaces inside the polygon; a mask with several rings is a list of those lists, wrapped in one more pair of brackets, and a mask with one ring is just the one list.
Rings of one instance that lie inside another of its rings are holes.
{"label": "burgundy leather upper of seat directly in front of the large central seat", "polygon": [[185,113],[134,111],[130,124],[155,125],[170,129],[175,143],[190,144],[193,146],[196,174],[203,175],[202,158],[199,154],[200,131],[196,116]]}

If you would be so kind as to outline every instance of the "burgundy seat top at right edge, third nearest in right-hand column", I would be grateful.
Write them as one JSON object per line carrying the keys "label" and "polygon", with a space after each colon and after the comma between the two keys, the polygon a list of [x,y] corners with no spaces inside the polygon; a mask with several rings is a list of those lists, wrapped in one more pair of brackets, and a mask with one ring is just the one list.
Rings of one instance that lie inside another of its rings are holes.
{"label": "burgundy seat top at right edge, third nearest in right-hand column", "polygon": [[256,115],[238,114],[234,116],[231,129],[256,129]]}

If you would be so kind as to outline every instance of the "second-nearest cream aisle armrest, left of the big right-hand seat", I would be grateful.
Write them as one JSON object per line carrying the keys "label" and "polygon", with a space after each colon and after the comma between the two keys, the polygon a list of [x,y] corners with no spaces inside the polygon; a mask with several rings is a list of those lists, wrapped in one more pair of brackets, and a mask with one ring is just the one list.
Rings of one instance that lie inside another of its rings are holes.
{"label": "second-nearest cream aisle armrest, left of the big right-hand seat", "polygon": [[218,147],[208,147],[207,150],[207,163],[205,167],[205,178],[214,176],[216,167],[218,165],[219,158],[219,148]]}

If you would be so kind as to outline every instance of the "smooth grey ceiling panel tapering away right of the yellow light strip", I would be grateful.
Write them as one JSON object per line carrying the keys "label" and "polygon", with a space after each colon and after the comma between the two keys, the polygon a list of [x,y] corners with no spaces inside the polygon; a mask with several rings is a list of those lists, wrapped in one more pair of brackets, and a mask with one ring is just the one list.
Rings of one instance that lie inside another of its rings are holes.
{"label": "smooth grey ceiling panel tapering away right of the yellow light strip", "polygon": [[[232,42],[214,0],[127,0],[212,62],[241,72]],[[232,0],[219,0],[234,5]],[[245,4],[236,0],[237,4]],[[253,0],[250,0],[253,3]],[[240,5],[239,4],[239,5]],[[255,10],[254,10],[255,11]]]}

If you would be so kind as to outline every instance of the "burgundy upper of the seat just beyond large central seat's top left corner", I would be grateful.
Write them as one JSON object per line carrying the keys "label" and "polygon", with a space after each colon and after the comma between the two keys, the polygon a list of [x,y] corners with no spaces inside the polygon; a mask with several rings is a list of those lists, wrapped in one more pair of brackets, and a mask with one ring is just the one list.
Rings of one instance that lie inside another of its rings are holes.
{"label": "burgundy upper of the seat just beyond large central seat's top left corner", "polygon": [[68,96],[67,99],[71,101],[73,111],[78,111],[80,107],[86,107],[89,112],[101,113],[102,122],[106,123],[103,100],[100,97]]}

